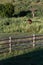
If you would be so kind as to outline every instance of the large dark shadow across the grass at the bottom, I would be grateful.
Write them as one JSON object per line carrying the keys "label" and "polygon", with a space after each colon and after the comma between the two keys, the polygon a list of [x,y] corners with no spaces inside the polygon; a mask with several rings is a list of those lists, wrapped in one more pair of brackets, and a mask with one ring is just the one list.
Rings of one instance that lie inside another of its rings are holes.
{"label": "large dark shadow across the grass at the bottom", "polygon": [[0,65],[43,65],[43,49],[1,60]]}

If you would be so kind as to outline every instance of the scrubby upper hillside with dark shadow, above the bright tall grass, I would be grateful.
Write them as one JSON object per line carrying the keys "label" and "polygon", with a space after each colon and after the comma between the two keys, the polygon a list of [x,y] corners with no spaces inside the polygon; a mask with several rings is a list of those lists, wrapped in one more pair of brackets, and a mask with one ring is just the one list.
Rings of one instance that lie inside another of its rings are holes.
{"label": "scrubby upper hillside with dark shadow, above the bright tall grass", "polygon": [[[8,4],[9,3],[9,4]],[[42,16],[43,0],[0,0],[0,10],[6,16],[6,8],[14,6],[12,17],[16,16]],[[6,6],[7,5],[7,6]],[[2,11],[4,9],[4,11]],[[7,8],[8,10],[9,8]],[[11,9],[11,7],[10,7]],[[12,10],[12,9],[11,9]],[[8,10],[9,13],[11,10]],[[1,15],[1,14],[0,14]],[[8,15],[8,14],[7,14]],[[9,15],[8,15],[9,17]]]}

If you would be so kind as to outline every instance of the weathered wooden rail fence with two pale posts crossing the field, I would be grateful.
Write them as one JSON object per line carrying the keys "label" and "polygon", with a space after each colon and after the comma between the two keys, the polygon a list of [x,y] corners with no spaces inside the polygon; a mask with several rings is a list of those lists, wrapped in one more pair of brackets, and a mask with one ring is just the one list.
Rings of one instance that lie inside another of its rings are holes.
{"label": "weathered wooden rail fence with two pale posts crossing the field", "polygon": [[43,34],[31,36],[16,36],[0,39],[0,53],[9,52],[14,50],[23,50],[28,48],[43,46]]}

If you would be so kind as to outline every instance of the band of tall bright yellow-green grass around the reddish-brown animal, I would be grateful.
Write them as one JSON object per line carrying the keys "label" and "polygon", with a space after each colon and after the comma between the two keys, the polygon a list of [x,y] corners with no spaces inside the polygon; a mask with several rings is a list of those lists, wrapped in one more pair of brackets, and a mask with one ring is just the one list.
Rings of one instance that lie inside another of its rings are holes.
{"label": "band of tall bright yellow-green grass around the reddish-brown animal", "polygon": [[0,33],[43,34],[43,18],[34,17],[31,19],[32,24],[29,24],[28,17],[0,19]]}

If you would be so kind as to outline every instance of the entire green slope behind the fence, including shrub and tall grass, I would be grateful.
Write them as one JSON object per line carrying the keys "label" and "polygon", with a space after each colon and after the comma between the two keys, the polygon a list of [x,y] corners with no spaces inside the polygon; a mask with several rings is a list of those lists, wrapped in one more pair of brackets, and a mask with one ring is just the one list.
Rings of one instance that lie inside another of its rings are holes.
{"label": "entire green slope behind the fence, including shrub and tall grass", "polygon": [[43,0],[0,0],[0,33],[15,32],[43,33]]}

